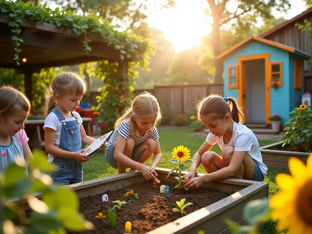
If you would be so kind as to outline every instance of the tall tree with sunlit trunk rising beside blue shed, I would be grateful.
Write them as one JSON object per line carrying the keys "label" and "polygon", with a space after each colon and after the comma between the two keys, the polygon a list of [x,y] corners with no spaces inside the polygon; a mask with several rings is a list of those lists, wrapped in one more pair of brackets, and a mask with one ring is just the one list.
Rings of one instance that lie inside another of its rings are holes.
{"label": "tall tree with sunlit trunk rising beside blue shed", "polygon": [[[237,7],[234,11],[227,7],[229,0],[207,0],[209,8],[207,13],[213,19],[212,26],[212,45],[213,54],[216,58],[221,54],[220,27],[232,23],[236,19],[238,23],[246,15],[260,17],[262,19],[272,18],[271,10],[287,11],[290,8],[289,0],[236,0]],[[233,2],[231,2],[233,4]],[[215,82],[222,82],[223,63],[216,61]]]}

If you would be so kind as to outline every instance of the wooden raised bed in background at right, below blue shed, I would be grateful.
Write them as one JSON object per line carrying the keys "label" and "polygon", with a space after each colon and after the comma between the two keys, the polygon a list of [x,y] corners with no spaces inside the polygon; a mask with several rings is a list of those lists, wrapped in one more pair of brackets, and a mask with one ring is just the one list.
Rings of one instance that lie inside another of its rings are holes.
{"label": "wooden raised bed in background at right, below blue shed", "polygon": [[282,147],[283,144],[284,141],[280,141],[260,148],[263,163],[266,164],[268,168],[289,170],[288,159],[290,157],[299,158],[306,164],[309,153],[300,152],[302,151],[300,148],[296,149],[298,151],[294,151],[290,145]]}

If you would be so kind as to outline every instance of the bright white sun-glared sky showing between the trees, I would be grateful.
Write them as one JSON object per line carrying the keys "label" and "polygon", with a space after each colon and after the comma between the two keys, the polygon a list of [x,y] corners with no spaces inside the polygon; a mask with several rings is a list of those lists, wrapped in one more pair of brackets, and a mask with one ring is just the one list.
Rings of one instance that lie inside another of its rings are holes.
{"label": "bright white sun-glared sky showing between the trees", "polygon": [[[201,36],[207,35],[211,31],[211,26],[205,23],[202,8],[208,6],[207,0],[176,0],[175,8],[163,9],[153,12],[148,18],[151,27],[159,28],[164,32],[166,40],[170,41],[176,52],[189,49],[199,45]],[[236,10],[236,5],[230,0],[227,7]],[[302,0],[290,0],[291,9],[287,14],[273,11],[273,15],[278,18],[283,16],[291,19],[306,10],[305,2]]]}

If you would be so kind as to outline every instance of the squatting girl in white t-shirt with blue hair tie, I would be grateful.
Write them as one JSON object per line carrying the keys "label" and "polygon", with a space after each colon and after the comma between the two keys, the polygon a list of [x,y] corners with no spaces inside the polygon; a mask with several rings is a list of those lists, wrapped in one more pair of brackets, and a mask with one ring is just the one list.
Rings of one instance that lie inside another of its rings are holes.
{"label": "squatting girl in white t-shirt with blue hair tie", "polygon": [[[267,167],[262,162],[255,134],[242,123],[244,115],[233,98],[209,95],[197,105],[197,119],[209,129],[206,141],[193,157],[185,186],[198,188],[204,182],[228,177],[263,181]],[[214,144],[222,157],[210,151]],[[207,175],[195,177],[202,163]]]}

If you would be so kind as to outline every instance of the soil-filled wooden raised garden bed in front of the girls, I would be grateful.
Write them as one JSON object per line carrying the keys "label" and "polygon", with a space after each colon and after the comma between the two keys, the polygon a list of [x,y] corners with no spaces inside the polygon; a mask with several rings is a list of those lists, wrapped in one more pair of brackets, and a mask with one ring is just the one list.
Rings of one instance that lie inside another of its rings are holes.
{"label": "soil-filled wooden raised garden bed in front of the girls", "polygon": [[[244,223],[242,211],[245,204],[269,194],[268,183],[240,179],[205,183],[197,190],[179,192],[173,188],[177,184],[174,173],[166,179],[170,170],[156,168],[156,171],[160,184],[145,181],[141,172],[133,171],[65,186],[76,191],[80,198],[80,212],[95,225],[95,230],[83,233],[124,233],[126,221],[132,223],[132,233],[196,234],[199,230],[210,234],[230,233],[224,219]],[[169,194],[160,193],[161,185],[169,186]],[[107,218],[99,220],[95,216],[99,212],[107,215],[107,209],[115,205],[112,201],[125,200],[123,194],[127,188],[134,189],[139,199],[122,205],[116,212],[117,227],[109,229]],[[102,202],[103,194],[108,195],[108,202]],[[186,207],[185,216],[172,212],[177,207],[175,202],[182,198],[193,203]]]}

